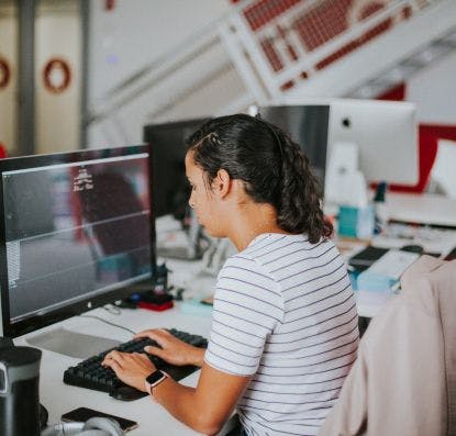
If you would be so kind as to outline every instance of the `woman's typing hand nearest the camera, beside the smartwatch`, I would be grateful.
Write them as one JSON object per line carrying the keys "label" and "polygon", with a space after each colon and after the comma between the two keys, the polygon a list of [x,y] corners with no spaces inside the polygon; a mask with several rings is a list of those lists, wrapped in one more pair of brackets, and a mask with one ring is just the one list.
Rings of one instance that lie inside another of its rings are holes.
{"label": "woman's typing hand nearest the camera, beside the smartwatch", "polygon": [[148,357],[140,353],[111,351],[101,365],[111,368],[124,383],[143,392],[146,392],[144,380],[156,370]]}

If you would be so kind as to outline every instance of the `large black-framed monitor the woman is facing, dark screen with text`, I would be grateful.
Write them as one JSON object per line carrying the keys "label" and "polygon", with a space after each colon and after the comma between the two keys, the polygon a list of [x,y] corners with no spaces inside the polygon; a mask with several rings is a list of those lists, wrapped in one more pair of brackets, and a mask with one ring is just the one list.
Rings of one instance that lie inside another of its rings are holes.
{"label": "large black-framed monitor the woman is facing, dark screen with text", "polygon": [[152,284],[149,172],[146,145],[0,160],[0,336]]}

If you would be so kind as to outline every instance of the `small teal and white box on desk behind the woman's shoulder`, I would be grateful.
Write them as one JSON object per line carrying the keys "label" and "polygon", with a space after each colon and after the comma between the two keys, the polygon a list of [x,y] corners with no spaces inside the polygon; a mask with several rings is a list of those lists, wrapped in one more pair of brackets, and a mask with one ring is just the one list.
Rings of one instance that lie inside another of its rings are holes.
{"label": "small teal and white box on desk behind the woman's shoulder", "polygon": [[341,205],[338,209],[337,234],[340,236],[370,238],[374,232],[374,208]]}

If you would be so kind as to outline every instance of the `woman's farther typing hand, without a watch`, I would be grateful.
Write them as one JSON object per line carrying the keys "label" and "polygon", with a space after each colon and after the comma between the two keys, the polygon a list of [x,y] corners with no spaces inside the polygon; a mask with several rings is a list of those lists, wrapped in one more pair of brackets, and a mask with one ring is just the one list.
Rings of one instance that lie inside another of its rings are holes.
{"label": "woman's farther typing hand, without a watch", "polygon": [[144,350],[151,355],[158,356],[169,364],[177,366],[202,366],[204,349],[186,344],[183,340],[173,336],[166,329],[147,329],[137,333],[134,337],[149,337],[151,339],[155,340],[159,347],[147,346],[144,347]]}

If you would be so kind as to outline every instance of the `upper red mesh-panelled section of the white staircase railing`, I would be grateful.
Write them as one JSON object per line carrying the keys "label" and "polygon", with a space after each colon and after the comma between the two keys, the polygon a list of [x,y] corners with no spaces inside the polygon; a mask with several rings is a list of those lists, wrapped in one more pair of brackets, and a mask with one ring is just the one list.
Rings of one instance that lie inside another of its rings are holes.
{"label": "upper red mesh-panelled section of the white staircase railing", "polygon": [[243,46],[235,57],[240,71],[249,68],[267,98],[276,99],[433,2],[249,0],[229,18],[224,36],[229,45]]}

